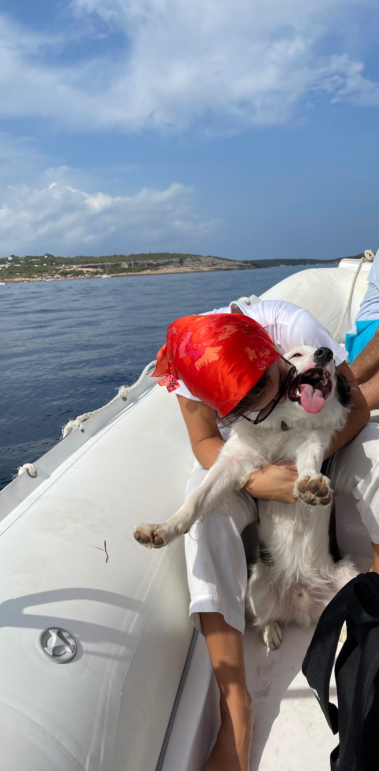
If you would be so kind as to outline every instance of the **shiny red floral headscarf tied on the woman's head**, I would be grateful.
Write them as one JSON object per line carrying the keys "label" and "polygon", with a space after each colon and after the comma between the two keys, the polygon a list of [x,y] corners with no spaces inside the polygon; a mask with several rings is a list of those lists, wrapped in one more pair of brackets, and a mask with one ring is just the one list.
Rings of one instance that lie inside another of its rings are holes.
{"label": "shiny red floral headscarf tied on the woman's head", "polygon": [[267,332],[248,316],[185,316],[169,325],[152,377],[163,377],[159,385],[169,391],[182,380],[224,417],[279,357]]}

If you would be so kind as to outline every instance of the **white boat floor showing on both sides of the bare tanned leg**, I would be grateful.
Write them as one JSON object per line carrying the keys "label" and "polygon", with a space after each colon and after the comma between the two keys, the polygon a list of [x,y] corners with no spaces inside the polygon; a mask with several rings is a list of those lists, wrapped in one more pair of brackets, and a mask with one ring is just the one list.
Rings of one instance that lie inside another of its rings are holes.
{"label": "white boat floor showing on both sides of the bare tanned leg", "polygon": [[[367,571],[369,557],[355,557]],[[247,687],[255,719],[250,771],[330,771],[338,744],[301,672],[314,628],[283,627],[278,651],[267,651],[260,633],[245,630]],[[338,645],[337,655],[341,644]],[[220,728],[220,693],[203,635],[198,635],[173,730],[159,771],[201,771]],[[330,701],[337,704],[334,674]]]}

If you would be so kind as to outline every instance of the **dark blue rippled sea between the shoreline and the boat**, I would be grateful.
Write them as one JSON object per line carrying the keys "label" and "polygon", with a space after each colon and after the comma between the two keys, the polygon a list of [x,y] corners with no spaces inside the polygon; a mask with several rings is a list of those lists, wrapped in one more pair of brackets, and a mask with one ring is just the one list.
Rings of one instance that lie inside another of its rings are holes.
{"label": "dark blue rippled sea between the shoreline and the boat", "polygon": [[[305,268],[303,268],[305,269]],[[301,268],[33,281],[0,287],[0,488],[69,418],[156,358],[169,322],[260,295]]]}

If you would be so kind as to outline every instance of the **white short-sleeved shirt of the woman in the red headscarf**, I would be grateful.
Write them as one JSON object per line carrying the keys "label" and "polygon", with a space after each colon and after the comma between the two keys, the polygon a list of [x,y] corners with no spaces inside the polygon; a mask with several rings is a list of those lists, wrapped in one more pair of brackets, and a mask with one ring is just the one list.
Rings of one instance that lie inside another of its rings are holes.
{"label": "white short-sleeved shirt of the woman in the red headscarf", "polygon": [[[258,322],[276,345],[281,354],[296,348],[297,345],[314,345],[315,348],[330,348],[333,351],[336,366],[342,364],[347,357],[344,348],[332,338],[317,318],[299,305],[284,300],[261,300],[255,305],[243,305],[242,302],[231,302],[227,308],[218,308],[209,313],[243,313]],[[206,315],[207,315],[206,314]],[[173,391],[177,396],[195,399],[196,396],[179,380],[179,388]]]}

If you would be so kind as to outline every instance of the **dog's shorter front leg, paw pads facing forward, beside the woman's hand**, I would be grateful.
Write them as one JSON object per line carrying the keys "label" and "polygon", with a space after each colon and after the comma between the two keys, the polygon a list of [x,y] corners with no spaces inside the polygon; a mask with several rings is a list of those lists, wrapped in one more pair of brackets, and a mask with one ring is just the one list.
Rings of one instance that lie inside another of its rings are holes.
{"label": "dog's shorter front leg, paw pads facing forward, beside the woman's hand", "polygon": [[296,466],[299,476],[294,492],[304,503],[310,503],[312,506],[327,506],[331,501],[330,480],[320,474],[326,449],[327,442],[318,435],[307,439],[297,449]]}

